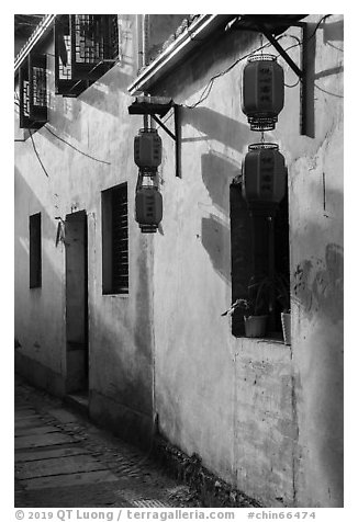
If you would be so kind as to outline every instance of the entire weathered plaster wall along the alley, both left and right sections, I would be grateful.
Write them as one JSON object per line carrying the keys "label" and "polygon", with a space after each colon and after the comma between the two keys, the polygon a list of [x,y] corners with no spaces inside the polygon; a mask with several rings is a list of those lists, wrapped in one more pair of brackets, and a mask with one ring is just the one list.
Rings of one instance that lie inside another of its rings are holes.
{"label": "entire weathered plaster wall along the alley, both left and right sections", "polygon": [[[310,16],[313,27],[320,18]],[[100,192],[127,181],[133,216],[132,146],[142,125],[127,114],[135,18],[123,23],[122,64],[77,100],[51,95],[49,128],[111,164],[83,157],[43,128],[33,138],[47,179],[31,139],[15,144],[19,351],[65,376],[65,254],[63,243],[55,246],[55,217],[86,208],[92,416],[124,436],[131,435],[125,427],[135,427],[143,442],[154,408],[171,442],[267,506],[342,506],[343,19],[327,19],[311,41],[312,137],[299,134],[299,87],[286,89],[277,129],[267,136],[279,143],[289,167],[291,348],[233,338],[221,317],[231,303],[228,186],[258,139],[240,110],[245,60],[188,107],[214,75],[259,46],[253,33],[212,39],[153,90],[188,105],[181,110],[182,178],[175,177],[174,143],[160,132],[159,232],[142,236],[130,220],[130,295],[102,295]],[[299,32],[289,34],[281,39],[286,48]],[[299,61],[297,47],[290,54]],[[295,76],[284,69],[293,84]],[[172,120],[167,125],[172,128]],[[27,219],[40,211],[44,279],[41,290],[30,291]]]}

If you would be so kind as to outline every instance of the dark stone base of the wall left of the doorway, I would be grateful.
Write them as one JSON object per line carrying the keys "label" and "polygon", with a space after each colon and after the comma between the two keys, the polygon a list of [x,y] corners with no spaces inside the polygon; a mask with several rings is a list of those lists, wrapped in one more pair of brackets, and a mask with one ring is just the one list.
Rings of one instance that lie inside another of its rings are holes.
{"label": "dark stone base of the wall left of the doorway", "polygon": [[15,350],[15,372],[36,388],[42,388],[57,397],[66,394],[66,383],[63,375],[57,374],[44,364]]}

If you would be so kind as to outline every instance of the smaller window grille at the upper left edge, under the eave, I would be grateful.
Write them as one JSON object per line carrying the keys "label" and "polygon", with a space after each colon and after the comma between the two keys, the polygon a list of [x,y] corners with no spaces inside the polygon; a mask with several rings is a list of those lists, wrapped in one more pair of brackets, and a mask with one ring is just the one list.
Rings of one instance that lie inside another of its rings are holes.
{"label": "smaller window grille at the upper left edge, under the eave", "polygon": [[47,122],[46,55],[30,54],[19,78],[20,127],[40,128]]}

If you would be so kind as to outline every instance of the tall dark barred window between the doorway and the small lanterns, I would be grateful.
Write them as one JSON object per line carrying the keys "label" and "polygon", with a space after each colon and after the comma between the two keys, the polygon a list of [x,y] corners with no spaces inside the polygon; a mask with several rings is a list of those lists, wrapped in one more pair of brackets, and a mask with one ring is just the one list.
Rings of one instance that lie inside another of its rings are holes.
{"label": "tall dark barred window between the doorway and the small lanterns", "polygon": [[128,293],[126,183],[102,192],[102,293]]}

